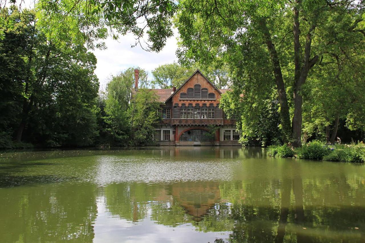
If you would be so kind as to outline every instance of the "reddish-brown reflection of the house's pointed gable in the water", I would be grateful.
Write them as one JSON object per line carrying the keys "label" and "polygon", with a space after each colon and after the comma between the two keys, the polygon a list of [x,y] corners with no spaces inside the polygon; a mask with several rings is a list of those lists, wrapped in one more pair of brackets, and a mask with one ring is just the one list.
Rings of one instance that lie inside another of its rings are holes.
{"label": "reddish-brown reflection of the house's pointed gable in the water", "polygon": [[214,182],[183,182],[172,185],[171,194],[195,220],[200,221],[220,197],[219,184]]}

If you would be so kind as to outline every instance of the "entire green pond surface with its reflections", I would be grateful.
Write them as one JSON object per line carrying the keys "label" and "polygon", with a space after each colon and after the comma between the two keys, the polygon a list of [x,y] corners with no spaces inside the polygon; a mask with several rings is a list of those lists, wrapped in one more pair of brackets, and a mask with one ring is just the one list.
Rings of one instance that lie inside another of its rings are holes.
{"label": "entire green pond surface with its reflections", "polygon": [[240,147],[0,154],[0,242],[365,242],[362,164]]}

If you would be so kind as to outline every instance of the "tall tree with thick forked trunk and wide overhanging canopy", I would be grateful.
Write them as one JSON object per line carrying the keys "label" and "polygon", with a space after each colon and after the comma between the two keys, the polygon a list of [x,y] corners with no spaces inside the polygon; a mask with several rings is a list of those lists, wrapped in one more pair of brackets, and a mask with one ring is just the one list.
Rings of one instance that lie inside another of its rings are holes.
{"label": "tall tree with thick forked trunk and wide overhanging canopy", "polygon": [[342,45],[344,39],[337,36],[351,36],[348,45],[364,39],[359,24],[363,4],[357,1],[187,0],[179,7],[180,61],[224,57],[237,77],[245,78],[244,86],[237,87],[241,93],[258,81],[273,82],[285,141],[295,147],[301,146],[302,88],[310,70]]}

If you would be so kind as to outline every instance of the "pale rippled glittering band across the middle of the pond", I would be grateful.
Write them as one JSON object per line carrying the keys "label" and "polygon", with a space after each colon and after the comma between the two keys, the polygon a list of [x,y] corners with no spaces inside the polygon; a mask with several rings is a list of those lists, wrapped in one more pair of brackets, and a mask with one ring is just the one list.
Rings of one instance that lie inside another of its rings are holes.
{"label": "pale rippled glittering band across the middle of the pond", "polygon": [[231,180],[234,161],[178,161],[173,159],[100,157],[96,182],[172,182]]}

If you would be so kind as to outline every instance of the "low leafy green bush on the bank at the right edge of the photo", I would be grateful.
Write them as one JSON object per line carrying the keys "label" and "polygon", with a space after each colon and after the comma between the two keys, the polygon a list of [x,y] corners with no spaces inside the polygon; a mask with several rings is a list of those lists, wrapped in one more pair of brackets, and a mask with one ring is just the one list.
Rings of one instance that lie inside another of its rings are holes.
{"label": "low leafy green bush on the bank at the right edge of the photo", "polygon": [[327,161],[364,163],[365,162],[365,146],[364,144],[335,145],[333,150],[324,157]]}

